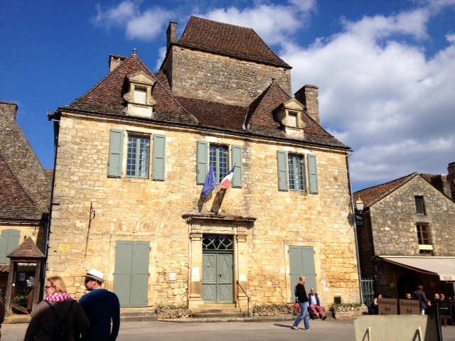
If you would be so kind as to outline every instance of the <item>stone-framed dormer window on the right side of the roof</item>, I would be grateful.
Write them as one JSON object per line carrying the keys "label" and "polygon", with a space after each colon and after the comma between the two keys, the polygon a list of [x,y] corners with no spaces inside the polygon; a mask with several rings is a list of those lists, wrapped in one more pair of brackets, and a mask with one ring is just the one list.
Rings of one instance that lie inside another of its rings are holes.
{"label": "stone-framed dormer window on the right side of the roof", "polygon": [[284,133],[296,139],[304,139],[305,122],[302,119],[304,106],[295,98],[281,104],[275,109],[278,121],[282,124]]}

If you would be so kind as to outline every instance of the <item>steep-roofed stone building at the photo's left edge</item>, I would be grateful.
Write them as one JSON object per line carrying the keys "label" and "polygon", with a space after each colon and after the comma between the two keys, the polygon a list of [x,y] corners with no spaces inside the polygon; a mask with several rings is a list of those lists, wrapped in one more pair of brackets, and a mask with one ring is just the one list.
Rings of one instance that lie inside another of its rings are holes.
{"label": "steep-roofed stone building at the photo's left edge", "polygon": [[23,263],[11,269],[8,256],[28,237],[33,249],[45,253],[51,186],[48,173],[16,122],[17,109],[16,103],[0,102],[0,295],[6,296],[11,272],[12,299],[26,306],[32,283],[26,281],[36,277],[36,265]]}

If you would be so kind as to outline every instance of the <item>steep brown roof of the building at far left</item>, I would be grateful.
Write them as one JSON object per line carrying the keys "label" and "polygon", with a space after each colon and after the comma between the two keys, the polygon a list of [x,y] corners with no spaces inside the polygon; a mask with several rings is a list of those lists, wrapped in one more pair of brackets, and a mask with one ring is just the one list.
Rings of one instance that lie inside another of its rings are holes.
{"label": "steep brown roof of the building at far left", "polygon": [[50,179],[16,122],[17,105],[0,102],[0,220],[45,220]]}

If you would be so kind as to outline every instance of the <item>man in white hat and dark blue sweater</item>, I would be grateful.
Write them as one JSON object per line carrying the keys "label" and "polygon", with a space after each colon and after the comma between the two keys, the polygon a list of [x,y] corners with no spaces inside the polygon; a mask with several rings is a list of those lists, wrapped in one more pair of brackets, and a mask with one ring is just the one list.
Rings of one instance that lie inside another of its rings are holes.
{"label": "man in white hat and dark blue sweater", "polygon": [[[80,305],[90,320],[90,329],[82,334],[82,340],[115,341],[120,329],[120,303],[115,293],[103,289],[105,275],[90,269],[85,275],[86,293],[80,298]],[[112,320],[112,330],[111,330]]]}

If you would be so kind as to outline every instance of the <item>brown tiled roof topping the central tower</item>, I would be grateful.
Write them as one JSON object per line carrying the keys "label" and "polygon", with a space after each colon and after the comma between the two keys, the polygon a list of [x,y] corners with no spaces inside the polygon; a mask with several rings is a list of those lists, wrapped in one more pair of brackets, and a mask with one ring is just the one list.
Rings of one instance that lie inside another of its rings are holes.
{"label": "brown tiled roof topping the central tower", "polygon": [[252,28],[218,23],[196,16],[190,18],[183,35],[174,44],[291,68],[270,50]]}

